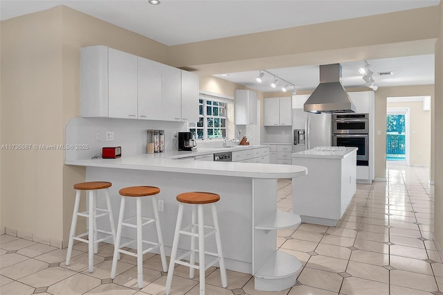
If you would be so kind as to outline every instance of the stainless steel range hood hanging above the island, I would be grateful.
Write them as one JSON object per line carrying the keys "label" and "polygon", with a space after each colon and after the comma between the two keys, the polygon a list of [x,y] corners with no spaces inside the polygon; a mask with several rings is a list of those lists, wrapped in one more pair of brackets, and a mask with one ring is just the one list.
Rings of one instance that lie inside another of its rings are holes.
{"label": "stainless steel range hood hanging above the island", "polygon": [[311,113],[354,113],[355,106],[340,80],[340,64],[320,65],[320,84],[303,109]]}

